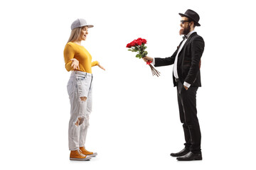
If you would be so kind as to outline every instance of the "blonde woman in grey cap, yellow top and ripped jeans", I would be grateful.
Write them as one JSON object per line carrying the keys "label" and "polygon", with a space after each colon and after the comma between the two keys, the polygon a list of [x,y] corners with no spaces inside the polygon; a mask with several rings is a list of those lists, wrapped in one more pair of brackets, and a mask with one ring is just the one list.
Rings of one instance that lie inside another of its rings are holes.
{"label": "blonde woman in grey cap, yellow top and ripped jeans", "polygon": [[[88,28],[92,28],[84,19],[77,19],[71,25],[71,34],[64,49],[65,68],[72,73],[68,81],[70,98],[70,122],[68,143],[70,160],[89,160],[97,155],[85,149],[85,139],[92,111],[92,67],[104,69],[99,62],[92,62],[89,52],[81,45],[86,40]],[[105,69],[104,69],[105,70]]]}

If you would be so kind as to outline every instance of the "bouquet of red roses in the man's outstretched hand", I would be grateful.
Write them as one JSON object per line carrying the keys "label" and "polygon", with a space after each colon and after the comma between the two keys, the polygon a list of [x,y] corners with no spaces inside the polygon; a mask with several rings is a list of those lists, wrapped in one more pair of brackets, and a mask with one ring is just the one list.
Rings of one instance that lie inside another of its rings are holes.
{"label": "bouquet of red roses in the man's outstretched hand", "polygon": [[[146,49],[146,40],[145,39],[142,39],[142,38],[138,38],[137,40],[133,40],[132,42],[129,42],[127,44],[127,47],[128,48],[131,48],[129,49],[129,51],[132,51],[132,52],[138,52],[138,54],[136,55],[136,57],[138,57],[139,59],[143,58],[143,57],[146,57],[146,55],[148,54],[147,51],[145,51]],[[149,65],[149,67],[151,68],[151,72],[154,75],[156,75],[157,77],[160,76],[160,72],[157,71],[152,65],[151,65],[151,61],[149,62],[146,62],[146,64]]]}

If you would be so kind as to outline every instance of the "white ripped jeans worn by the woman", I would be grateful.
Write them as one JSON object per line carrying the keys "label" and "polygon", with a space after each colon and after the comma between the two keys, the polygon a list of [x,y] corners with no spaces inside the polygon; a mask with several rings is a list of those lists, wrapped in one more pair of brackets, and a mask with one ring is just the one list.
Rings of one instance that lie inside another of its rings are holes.
{"label": "white ripped jeans worn by the woman", "polygon": [[[92,112],[92,74],[73,71],[68,81],[70,98],[70,122],[68,127],[68,146],[70,150],[85,147],[89,115]],[[86,97],[82,101],[80,97]],[[75,125],[80,118],[79,124]]]}

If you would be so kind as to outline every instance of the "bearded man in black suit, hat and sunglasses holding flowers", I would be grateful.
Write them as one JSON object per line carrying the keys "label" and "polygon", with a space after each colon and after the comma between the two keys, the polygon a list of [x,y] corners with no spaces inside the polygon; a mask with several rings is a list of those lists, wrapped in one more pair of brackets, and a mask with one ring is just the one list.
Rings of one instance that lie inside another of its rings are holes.
{"label": "bearded man in black suit, hat and sunglasses holding flowers", "polygon": [[181,152],[171,153],[178,161],[202,160],[201,131],[196,110],[196,91],[201,86],[201,56],[204,41],[195,32],[196,26],[201,26],[198,13],[188,9],[181,16],[180,35],[183,41],[171,57],[144,57],[144,61],[151,61],[155,67],[174,64],[174,86],[177,86],[178,108],[185,135],[185,148]]}

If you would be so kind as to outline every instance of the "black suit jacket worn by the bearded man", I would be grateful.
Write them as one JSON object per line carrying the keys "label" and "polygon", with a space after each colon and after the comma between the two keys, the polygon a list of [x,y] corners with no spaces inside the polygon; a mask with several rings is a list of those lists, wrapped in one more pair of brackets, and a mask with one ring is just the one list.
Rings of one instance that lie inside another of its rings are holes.
{"label": "black suit jacket worn by the bearded man", "polygon": [[[178,48],[180,45],[178,45]],[[177,72],[178,79],[182,83],[186,81],[188,84],[191,84],[191,86],[201,86],[200,64],[204,46],[203,38],[195,32],[189,36],[181,52],[178,53]],[[171,57],[155,58],[154,66],[159,67],[174,64],[178,48]],[[174,86],[177,86],[174,74],[173,79]]]}

